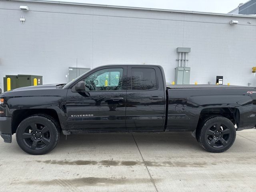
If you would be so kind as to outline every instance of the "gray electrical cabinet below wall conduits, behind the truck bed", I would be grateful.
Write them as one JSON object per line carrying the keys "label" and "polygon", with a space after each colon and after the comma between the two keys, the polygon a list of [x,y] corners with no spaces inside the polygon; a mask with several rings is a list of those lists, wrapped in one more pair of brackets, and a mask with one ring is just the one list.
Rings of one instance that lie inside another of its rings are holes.
{"label": "gray electrical cabinet below wall conduits, behind the truck bed", "polygon": [[190,67],[175,68],[175,84],[190,84]]}

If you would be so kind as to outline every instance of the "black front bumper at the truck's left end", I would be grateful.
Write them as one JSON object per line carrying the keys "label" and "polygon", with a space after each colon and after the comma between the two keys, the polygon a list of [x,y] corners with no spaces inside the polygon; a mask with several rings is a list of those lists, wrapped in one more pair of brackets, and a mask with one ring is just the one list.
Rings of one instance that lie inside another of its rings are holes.
{"label": "black front bumper at the truck's left end", "polygon": [[4,139],[4,142],[12,142],[12,118],[0,117],[0,136]]}

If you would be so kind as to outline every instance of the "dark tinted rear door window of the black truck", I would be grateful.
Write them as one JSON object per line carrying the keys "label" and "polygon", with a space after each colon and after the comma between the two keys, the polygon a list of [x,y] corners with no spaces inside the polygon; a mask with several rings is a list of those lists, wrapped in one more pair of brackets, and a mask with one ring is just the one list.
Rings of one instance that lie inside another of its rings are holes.
{"label": "dark tinted rear door window of the black truck", "polygon": [[153,68],[132,68],[132,90],[156,89],[156,71]]}

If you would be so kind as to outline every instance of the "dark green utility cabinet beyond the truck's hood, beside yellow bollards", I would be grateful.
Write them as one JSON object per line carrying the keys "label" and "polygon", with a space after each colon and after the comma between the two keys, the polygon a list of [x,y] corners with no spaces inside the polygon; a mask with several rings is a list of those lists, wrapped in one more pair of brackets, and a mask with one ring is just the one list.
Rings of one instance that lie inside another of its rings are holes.
{"label": "dark green utility cabinet beyond the truck's hood, beside yellow bollards", "polygon": [[11,79],[11,89],[27,87],[34,85],[34,78],[37,80],[37,85],[43,84],[43,76],[38,75],[6,75],[4,77],[4,92],[7,91],[7,78]]}

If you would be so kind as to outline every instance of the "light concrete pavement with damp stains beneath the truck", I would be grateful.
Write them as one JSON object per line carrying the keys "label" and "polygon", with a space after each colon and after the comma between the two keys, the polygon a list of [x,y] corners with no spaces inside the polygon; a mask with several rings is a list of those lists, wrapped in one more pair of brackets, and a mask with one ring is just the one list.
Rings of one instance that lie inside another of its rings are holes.
{"label": "light concrete pavement with damp stains beneath the truck", "polygon": [[256,189],[256,130],[220,154],[190,132],[62,135],[46,155],[0,142],[1,192],[205,192]]}

